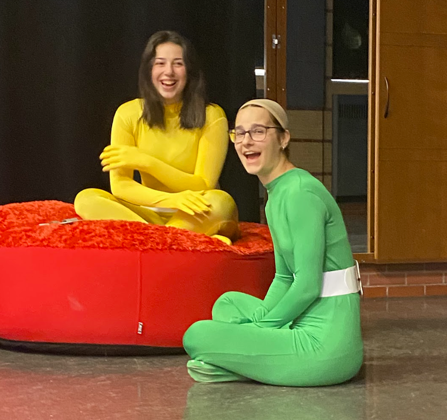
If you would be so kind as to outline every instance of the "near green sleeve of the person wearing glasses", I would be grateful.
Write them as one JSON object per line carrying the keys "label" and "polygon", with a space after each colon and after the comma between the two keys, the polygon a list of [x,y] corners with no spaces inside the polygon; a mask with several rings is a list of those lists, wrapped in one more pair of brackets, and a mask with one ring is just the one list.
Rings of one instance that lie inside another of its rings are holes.
{"label": "near green sleeve of the person wearing glasses", "polygon": [[[260,319],[255,319],[257,326],[281,328],[301,315],[319,297],[323,277],[326,214],[324,203],[308,191],[300,191],[292,201],[287,202],[286,215],[282,215],[278,227],[282,234],[291,235],[293,278],[285,276],[285,268],[281,270],[283,273],[275,276],[275,297],[269,297],[268,301],[276,304]],[[281,251],[277,249],[279,254]],[[277,296],[286,289],[288,281],[291,283],[284,295],[275,302]],[[270,290],[266,298],[269,294]]]}

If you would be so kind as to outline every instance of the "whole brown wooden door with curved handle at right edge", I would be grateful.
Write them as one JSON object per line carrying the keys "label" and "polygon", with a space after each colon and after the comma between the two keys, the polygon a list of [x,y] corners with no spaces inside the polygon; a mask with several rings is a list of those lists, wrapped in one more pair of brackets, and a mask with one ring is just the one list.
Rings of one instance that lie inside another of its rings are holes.
{"label": "whole brown wooden door with curved handle at right edge", "polygon": [[378,0],[375,258],[447,259],[447,1]]}

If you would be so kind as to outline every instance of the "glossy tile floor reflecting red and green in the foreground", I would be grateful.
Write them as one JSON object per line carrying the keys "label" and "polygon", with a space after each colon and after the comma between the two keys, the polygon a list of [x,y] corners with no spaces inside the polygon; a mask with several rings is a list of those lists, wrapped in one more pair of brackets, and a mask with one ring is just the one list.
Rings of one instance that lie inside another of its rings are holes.
{"label": "glossy tile floor reflecting red and green in the foreground", "polygon": [[0,350],[0,419],[446,419],[447,297],[364,300],[362,311],[364,366],[330,387],[195,384],[186,355]]}

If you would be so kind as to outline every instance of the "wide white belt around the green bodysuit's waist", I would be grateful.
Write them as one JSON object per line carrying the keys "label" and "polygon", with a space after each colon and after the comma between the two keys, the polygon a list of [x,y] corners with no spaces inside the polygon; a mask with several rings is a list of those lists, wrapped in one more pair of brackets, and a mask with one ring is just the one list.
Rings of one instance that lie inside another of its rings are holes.
{"label": "wide white belt around the green bodysuit's waist", "polygon": [[356,260],[355,265],[345,270],[327,271],[323,273],[323,283],[320,297],[363,294],[360,270]]}

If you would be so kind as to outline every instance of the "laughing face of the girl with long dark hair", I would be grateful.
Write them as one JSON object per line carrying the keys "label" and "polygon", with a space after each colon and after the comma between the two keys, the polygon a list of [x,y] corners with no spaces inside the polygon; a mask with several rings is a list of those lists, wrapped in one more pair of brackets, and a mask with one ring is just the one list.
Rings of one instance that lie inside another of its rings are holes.
{"label": "laughing face of the girl with long dark hair", "polygon": [[165,42],[157,46],[152,64],[152,83],[165,105],[182,100],[186,85],[186,67],[180,45]]}

